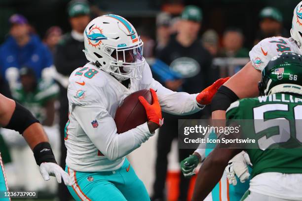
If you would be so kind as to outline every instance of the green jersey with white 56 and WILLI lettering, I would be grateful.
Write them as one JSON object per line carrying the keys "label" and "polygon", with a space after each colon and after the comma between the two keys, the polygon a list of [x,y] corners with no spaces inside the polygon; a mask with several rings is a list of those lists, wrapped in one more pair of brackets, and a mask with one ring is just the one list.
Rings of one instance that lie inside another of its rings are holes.
{"label": "green jersey with white 56 and WILLI lettering", "polygon": [[254,148],[246,149],[252,177],[264,172],[302,173],[302,96],[278,93],[237,100],[226,118],[246,120],[241,136],[256,140]]}

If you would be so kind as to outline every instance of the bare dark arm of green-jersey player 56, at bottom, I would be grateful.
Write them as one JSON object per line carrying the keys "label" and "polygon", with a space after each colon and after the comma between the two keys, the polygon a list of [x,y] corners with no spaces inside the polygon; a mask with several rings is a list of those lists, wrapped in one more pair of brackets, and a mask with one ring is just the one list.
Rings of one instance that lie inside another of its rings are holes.
{"label": "bare dark arm of green-jersey player 56, at bottom", "polygon": [[221,179],[229,160],[241,149],[215,148],[200,167],[192,201],[203,201]]}

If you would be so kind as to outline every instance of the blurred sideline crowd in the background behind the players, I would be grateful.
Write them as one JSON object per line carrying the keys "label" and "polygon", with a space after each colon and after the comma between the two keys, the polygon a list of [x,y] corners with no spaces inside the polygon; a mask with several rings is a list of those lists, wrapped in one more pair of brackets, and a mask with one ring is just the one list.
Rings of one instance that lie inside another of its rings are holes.
{"label": "blurred sideline crowd in the background behind the players", "polygon": [[[240,70],[260,40],[290,37],[299,1],[0,0],[0,93],[39,119],[64,168],[68,76],[87,63],[82,33],[91,19],[109,13],[125,17],[144,41],[143,54],[153,77],[173,91],[198,93]],[[209,118],[208,108],[185,117],[164,114],[165,124],[156,138],[130,156],[151,200],[185,201],[190,196],[193,179],[181,176],[178,162],[193,150],[173,149],[175,125],[178,118]],[[64,185],[40,178],[33,154],[19,134],[5,129],[0,133],[10,189],[36,190],[39,198],[70,199]]]}

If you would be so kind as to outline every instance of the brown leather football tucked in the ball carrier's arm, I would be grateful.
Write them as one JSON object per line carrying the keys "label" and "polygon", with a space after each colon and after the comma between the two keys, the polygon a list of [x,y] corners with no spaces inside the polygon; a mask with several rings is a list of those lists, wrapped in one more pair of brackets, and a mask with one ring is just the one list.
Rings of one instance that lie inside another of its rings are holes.
{"label": "brown leather football tucked in the ball carrier's arm", "polygon": [[138,99],[144,97],[150,104],[153,103],[151,92],[143,89],[127,96],[117,107],[114,121],[117,133],[121,134],[148,121],[145,107]]}

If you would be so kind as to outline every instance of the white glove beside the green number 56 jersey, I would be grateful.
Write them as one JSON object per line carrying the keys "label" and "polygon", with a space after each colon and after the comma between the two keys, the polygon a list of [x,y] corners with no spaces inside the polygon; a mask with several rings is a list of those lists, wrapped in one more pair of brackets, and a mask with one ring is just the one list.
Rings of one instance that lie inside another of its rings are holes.
{"label": "white glove beside the green number 56 jersey", "polygon": [[245,151],[234,156],[234,158],[228,162],[225,169],[228,183],[233,186],[237,185],[236,175],[240,179],[240,182],[244,183],[250,177],[248,165],[252,164],[249,155]]}

